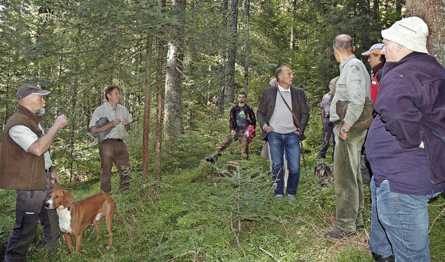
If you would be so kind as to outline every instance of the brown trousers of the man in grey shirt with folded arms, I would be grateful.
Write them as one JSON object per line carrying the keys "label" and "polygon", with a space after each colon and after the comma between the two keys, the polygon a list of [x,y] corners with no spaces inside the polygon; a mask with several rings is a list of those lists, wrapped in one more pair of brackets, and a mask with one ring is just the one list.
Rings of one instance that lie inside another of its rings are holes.
{"label": "brown trousers of the man in grey shirt with folded arms", "polygon": [[105,139],[99,142],[100,166],[102,174],[100,175],[100,189],[103,192],[111,191],[111,169],[116,165],[120,175],[120,189],[128,189],[129,172],[125,170],[130,166],[130,155],[122,139]]}

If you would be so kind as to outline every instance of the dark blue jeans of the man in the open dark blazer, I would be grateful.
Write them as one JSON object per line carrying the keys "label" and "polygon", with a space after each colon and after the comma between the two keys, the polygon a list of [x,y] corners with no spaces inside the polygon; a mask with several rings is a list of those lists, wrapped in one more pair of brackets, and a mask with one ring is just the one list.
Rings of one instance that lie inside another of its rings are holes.
{"label": "dark blue jeans of the man in the open dark blazer", "polygon": [[272,178],[276,183],[275,195],[284,195],[284,153],[286,153],[287,169],[289,169],[286,193],[295,195],[300,181],[300,135],[295,132],[278,134],[270,131],[267,139],[272,158]]}

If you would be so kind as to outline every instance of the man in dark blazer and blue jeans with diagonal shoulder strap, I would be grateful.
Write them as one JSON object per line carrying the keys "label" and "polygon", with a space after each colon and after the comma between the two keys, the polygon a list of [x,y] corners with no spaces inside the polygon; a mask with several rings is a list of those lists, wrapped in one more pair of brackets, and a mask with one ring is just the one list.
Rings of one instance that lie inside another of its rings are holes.
{"label": "man in dark blazer and blue jeans with diagonal shoulder strap", "polygon": [[286,196],[293,204],[300,180],[300,140],[305,139],[309,121],[305,91],[292,86],[293,72],[282,66],[275,72],[277,86],[265,88],[259,102],[257,117],[263,132],[261,140],[268,140],[272,158],[272,177],[275,183],[275,199],[284,196],[283,155],[289,168]]}

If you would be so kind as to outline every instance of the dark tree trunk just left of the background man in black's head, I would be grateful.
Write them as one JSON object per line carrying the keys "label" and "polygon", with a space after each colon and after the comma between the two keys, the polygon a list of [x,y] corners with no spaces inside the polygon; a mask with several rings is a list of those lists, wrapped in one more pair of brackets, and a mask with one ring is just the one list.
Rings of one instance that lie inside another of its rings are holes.
{"label": "dark tree trunk just left of the background man in black's head", "polygon": [[229,47],[228,69],[227,69],[227,85],[225,93],[225,107],[229,107],[234,102],[234,86],[235,86],[235,59],[236,59],[236,42],[238,38],[238,0],[232,0],[230,10],[230,27],[232,29],[232,41]]}

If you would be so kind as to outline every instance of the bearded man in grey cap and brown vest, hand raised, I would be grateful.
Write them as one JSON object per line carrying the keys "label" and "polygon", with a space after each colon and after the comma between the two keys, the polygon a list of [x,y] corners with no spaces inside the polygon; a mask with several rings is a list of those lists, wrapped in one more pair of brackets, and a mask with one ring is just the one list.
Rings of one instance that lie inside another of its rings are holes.
{"label": "bearded man in grey cap and brown vest, hand raised", "polygon": [[45,248],[59,245],[56,210],[47,210],[52,184],[58,180],[52,169],[49,146],[67,117],[58,116],[45,133],[40,121],[44,115],[44,91],[34,84],[24,84],[17,91],[17,111],[5,125],[0,149],[0,187],[17,190],[15,224],[8,239],[5,261],[23,261],[35,240],[40,219]]}

